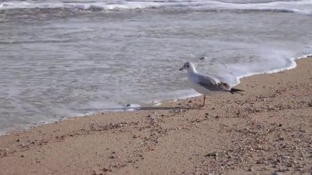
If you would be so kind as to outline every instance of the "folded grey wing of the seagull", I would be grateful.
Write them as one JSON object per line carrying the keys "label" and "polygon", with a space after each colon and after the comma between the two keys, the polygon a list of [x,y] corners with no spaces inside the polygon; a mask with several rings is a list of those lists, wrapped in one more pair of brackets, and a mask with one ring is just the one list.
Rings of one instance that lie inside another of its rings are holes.
{"label": "folded grey wing of the seagull", "polygon": [[209,91],[230,91],[231,87],[225,82],[220,82],[218,79],[206,76],[199,75],[198,84],[208,89]]}

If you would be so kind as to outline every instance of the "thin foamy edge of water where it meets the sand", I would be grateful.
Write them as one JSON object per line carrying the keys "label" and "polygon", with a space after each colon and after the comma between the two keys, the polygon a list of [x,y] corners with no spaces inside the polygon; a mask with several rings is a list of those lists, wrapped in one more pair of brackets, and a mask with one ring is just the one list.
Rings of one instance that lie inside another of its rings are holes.
{"label": "thin foamy edge of water where it meets the sand", "polygon": [[[250,76],[255,76],[255,75],[261,75],[261,74],[274,74],[274,73],[278,73],[278,72],[282,72],[282,71],[287,71],[287,70],[291,70],[291,69],[295,69],[297,67],[296,64],[296,60],[302,59],[302,58],[312,58],[312,54],[305,54],[296,58],[290,58],[290,60],[293,62],[291,65],[289,65],[288,67],[285,68],[281,68],[281,69],[275,69],[275,70],[271,70],[271,71],[267,71],[267,72],[256,72],[256,73],[250,73],[250,74],[245,74],[245,75],[241,75],[236,77],[236,84],[231,84],[231,86],[237,86],[238,84],[240,84],[241,79],[246,78],[246,77],[250,77]],[[191,89],[190,89],[191,90]],[[1,136],[6,136],[6,135],[10,135],[12,133],[18,133],[18,132],[25,132],[29,129],[33,129],[35,127],[40,127],[40,126],[45,126],[45,125],[49,125],[51,123],[58,123],[58,122],[63,122],[64,120],[72,120],[72,119],[76,119],[76,118],[81,118],[81,117],[92,117],[94,115],[99,115],[99,114],[103,114],[103,113],[112,113],[112,112],[125,112],[125,111],[140,111],[141,108],[146,108],[146,107],[155,107],[155,106],[160,106],[162,104],[166,104],[166,103],[170,103],[170,102],[175,102],[175,101],[179,101],[179,100],[185,100],[185,99],[190,99],[190,98],[198,98],[199,96],[201,96],[200,94],[197,95],[183,95],[179,98],[176,99],[170,99],[170,100],[151,100],[151,101],[147,101],[144,102],[142,104],[131,104],[130,105],[134,105],[133,107],[127,107],[127,106],[122,106],[122,107],[111,107],[111,108],[104,108],[102,111],[89,111],[86,114],[76,114],[74,116],[68,116],[68,117],[59,117],[56,119],[49,119],[49,120],[45,120],[45,121],[38,121],[37,123],[33,123],[33,124],[28,124],[28,126],[24,126],[21,128],[15,128],[15,129],[7,129],[9,130],[8,132],[6,132],[5,130],[3,132],[0,132],[0,137]],[[154,105],[153,105],[154,103]],[[127,104],[127,105],[129,105]],[[144,105],[144,106],[142,106]],[[21,125],[21,124],[19,124]]]}

